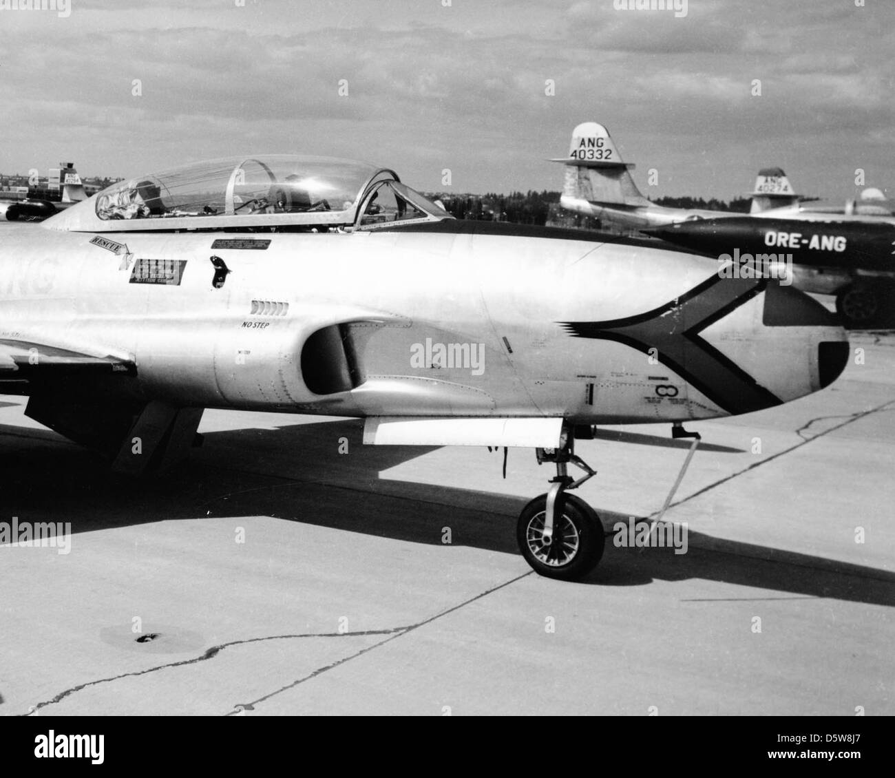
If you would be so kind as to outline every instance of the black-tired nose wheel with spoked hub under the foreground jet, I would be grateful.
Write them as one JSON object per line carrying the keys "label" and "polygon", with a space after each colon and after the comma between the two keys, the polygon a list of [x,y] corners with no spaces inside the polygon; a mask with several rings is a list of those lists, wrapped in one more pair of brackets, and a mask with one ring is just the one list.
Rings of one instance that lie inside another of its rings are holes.
{"label": "black-tired nose wheel with spoked hub under the foreground jet", "polygon": [[606,545],[600,517],[584,500],[563,492],[558,498],[553,543],[539,543],[547,512],[547,495],[528,503],[516,523],[516,543],[538,575],[576,581],[597,566]]}

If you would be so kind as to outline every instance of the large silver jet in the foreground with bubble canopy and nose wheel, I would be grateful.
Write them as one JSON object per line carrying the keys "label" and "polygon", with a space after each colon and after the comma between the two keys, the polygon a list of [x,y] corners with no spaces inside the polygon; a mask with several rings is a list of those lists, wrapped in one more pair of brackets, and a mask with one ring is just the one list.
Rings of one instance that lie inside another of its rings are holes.
{"label": "large silver jet in the foreground with bubble canopy and nose wheel", "polygon": [[0,391],[130,474],[180,462],[209,407],[358,417],[373,445],[533,448],[556,475],[520,551],[577,579],[605,538],[571,493],[594,474],[575,439],[688,435],[848,360],[808,296],[662,246],[456,220],[350,160],[141,175],[0,235]]}

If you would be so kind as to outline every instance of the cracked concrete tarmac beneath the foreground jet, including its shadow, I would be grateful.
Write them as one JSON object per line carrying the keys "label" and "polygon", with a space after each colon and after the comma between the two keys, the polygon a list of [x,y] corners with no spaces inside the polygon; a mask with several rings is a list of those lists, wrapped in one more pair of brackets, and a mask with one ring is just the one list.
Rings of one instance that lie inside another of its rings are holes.
{"label": "cracked concrete tarmac beneath the foreground jet, including its shadow", "polygon": [[[134,481],[0,397],[0,522],[72,531],[0,548],[0,715],[891,715],[895,335],[852,346],[823,392],[688,424],[686,553],[609,538],[580,583],[516,549],[552,475],[527,449],[502,480],[487,449],[207,411],[187,464]],[[669,432],[579,441],[607,530],[661,508]]]}

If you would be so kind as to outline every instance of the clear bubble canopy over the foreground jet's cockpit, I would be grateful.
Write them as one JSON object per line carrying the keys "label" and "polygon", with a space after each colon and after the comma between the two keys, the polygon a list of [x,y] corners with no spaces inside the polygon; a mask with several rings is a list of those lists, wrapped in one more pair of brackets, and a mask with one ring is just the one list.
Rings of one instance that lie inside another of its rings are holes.
{"label": "clear bubble canopy over the foreground jet's cockpit", "polygon": [[[386,203],[393,208],[383,209]],[[370,229],[440,218],[449,214],[401,184],[388,168],[350,159],[265,155],[212,159],[120,181],[45,224],[95,232]]]}

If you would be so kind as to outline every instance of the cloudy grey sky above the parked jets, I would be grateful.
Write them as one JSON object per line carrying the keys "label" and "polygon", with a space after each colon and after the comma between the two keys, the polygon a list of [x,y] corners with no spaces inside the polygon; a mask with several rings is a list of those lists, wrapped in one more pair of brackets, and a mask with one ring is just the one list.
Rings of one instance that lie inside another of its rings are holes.
{"label": "cloudy grey sky above the parked jets", "polygon": [[423,190],[443,168],[457,192],[558,190],[546,160],[598,121],[650,197],[729,199],[770,165],[812,195],[852,196],[856,168],[895,187],[893,0],[70,3],[0,0],[4,173],[301,152]]}

